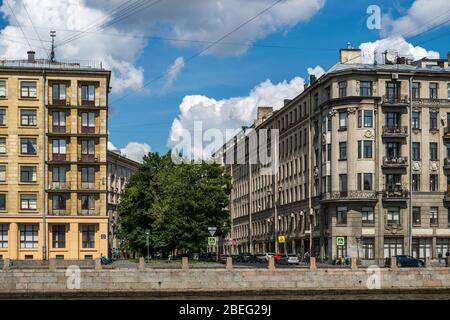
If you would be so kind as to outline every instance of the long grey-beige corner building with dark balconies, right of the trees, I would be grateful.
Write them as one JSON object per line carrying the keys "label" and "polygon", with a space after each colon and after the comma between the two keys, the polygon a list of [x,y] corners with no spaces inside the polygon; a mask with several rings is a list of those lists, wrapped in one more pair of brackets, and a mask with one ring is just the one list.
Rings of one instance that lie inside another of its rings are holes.
{"label": "long grey-beige corner building with dark balconies, right of the trees", "polygon": [[[252,132],[279,130],[276,174],[249,164],[249,134],[218,153],[233,178],[224,250],[310,251],[324,261],[350,255],[368,263],[402,253],[445,256],[450,55],[364,64],[361,51],[349,48],[339,59],[281,109],[258,110]],[[242,144],[245,161],[227,162]]]}

